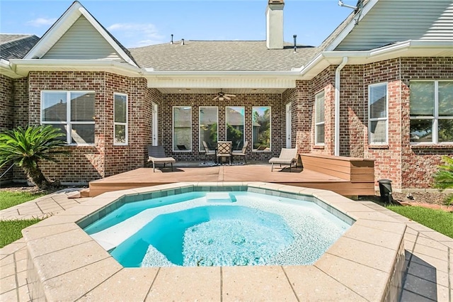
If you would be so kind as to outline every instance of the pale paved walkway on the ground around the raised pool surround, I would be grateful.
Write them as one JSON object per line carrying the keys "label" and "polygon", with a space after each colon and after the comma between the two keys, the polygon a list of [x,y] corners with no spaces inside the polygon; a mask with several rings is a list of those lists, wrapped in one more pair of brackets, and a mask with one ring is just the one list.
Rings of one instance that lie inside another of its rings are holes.
{"label": "pale paved walkway on the ground around the raised pool surround", "polygon": [[[44,218],[91,198],[68,198],[67,189],[0,211],[0,219]],[[357,201],[403,221],[406,274],[401,301],[453,302],[453,239],[413,222],[372,201]],[[0,249],[0,301],[30,301],[26,280],[27,252],[23,238]]]}

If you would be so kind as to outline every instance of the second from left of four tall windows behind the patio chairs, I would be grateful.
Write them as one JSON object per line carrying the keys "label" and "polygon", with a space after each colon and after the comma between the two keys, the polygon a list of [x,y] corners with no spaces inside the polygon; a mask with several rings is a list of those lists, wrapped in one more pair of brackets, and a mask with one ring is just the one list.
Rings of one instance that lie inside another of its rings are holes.
{"label": "second from left of four tall windows behind the patio chairs", "polygon": [[200,107],[200,151],[205,151],[204,140],[210,150],[217,147],[217,132],[219,130],[219,113],[217,107]]}

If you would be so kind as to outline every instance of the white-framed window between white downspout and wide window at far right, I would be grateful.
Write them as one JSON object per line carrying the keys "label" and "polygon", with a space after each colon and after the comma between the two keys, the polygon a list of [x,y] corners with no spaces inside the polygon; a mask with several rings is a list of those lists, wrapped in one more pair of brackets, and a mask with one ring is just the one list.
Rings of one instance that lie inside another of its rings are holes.
{"label": "white-framed window between white downspout and wide window at far right", "polygon": [[368,86],[368,140],[373,145],[386,145],[388,128],[387,83]]}

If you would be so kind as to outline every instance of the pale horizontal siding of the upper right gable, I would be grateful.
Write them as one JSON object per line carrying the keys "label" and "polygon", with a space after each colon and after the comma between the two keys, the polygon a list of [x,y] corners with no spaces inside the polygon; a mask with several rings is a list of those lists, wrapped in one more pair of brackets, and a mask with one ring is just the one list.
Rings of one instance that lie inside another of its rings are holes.
{"label": "pale horizontal siding of the upper right gable", "polygon": [[331,45],[334,50],[371,50],[406,40],[452,41],[453,46],[453,1],[378,0],[343,37]]}

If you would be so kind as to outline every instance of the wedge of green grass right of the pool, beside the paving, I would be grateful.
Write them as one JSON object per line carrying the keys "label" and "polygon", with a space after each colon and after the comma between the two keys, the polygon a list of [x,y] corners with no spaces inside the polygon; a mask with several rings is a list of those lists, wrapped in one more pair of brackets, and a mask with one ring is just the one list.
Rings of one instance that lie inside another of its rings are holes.
{"label": "wedge of green grass right of the pool, beside the paving", "polygon": [[453,238],[453,213],[421,206],[387,206],[387,208]]}

